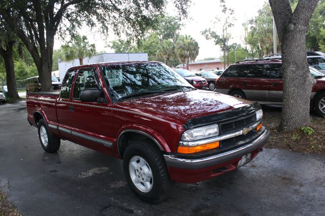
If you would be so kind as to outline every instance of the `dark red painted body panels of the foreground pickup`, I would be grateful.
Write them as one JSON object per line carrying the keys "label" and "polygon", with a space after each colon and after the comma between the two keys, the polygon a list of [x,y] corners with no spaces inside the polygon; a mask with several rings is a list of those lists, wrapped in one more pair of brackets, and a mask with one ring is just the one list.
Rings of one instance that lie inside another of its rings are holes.
{"label": "dark red painted body panels of the foreground pickup", "polygon": [[[115,62],[113,64],[122,64]],[[99,72],[100,66],[110,63],[83,65],[75,67],[93,67]],[[101,73],[98,73],[102,86],[105,86]],[[75,80],[76,80],[75,76]],[[202,79],[202,78],[200,78]],[[75,81],[74,81],[75,82]],[[74,82],[72,89],[74,89]],[[184,132],[183,125],[190,119],[227,112],[251,104],[248,100],[235,98],[215,92],[192,90],[184,92],[168,92],[163,95],[144,96],[127,101],[113,103],[103,88],[107,102],[82,102],[61,98],[60,95],[44,95],[42,93],[27,93],[26,104],[28,120],[37,126],[35,115],[41,114],[47,124],[59,126],[73,132],[107,140],[113,143],[113,148],[76,137],[49,127],[50,131],[62,138],[87,148],[121,158],[118,150],[118,137],[125,130],[137,130],[149,134],[163,148],[165,153],[175,153]],[[69,106],[74,105],[74,111]],[[91,105],[95,105],[91,106]],[[252,158],[257,151],[252,152]],[[194,183],[211,178],[217,174],[213,170],[221,166],[229,166],[234,170],[240,158],[204,169],[179,169],[169,167],[171,179],[178,182]]]}

